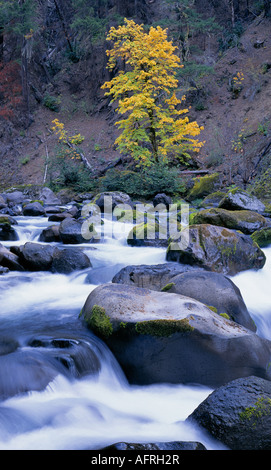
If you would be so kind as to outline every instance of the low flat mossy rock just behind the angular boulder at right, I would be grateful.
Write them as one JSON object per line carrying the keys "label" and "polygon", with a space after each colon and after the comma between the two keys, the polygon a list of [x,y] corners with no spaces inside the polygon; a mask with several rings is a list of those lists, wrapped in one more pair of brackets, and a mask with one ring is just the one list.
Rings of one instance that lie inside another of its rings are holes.
{"label": "low flat mossy rock just behind the angular boulder at right", "polygon": [[211,224],[227,227],[250,235],[267,226],[262,215],[251,210],[205,209],[192,215],[193,224]]}

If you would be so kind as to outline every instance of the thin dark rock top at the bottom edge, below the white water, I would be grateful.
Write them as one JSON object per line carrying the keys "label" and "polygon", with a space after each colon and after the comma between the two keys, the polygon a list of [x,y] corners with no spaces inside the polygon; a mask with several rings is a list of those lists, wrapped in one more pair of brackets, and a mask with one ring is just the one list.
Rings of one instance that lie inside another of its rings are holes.
{"label": "thin dark rock top at the bottom edge, below the white water", "polygon": [[200,442],[173,441],[173,442],[153,442],[147,444],[117,442],[101,450],[207,450]]}

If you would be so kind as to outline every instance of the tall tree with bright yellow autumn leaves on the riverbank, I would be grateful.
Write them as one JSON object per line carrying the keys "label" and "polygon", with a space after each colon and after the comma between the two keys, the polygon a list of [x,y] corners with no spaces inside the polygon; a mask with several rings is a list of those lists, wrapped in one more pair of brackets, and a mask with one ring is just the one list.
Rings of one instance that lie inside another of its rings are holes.
{"label": "tall tree with bright yellow autumn leaves on the riverbank", "polygon": [[182,65],[167,31],[157,26],[146,33],[142,25],[125,19],[123,26],[110,29],[107,40],[114,43],[107,51],[108,69],[114,71],[119,59],[125,68],[102,86],[124,116],[116,123],[122,130],[116,139],[120,152],[143,165],[168,162],[177,153],[186,161],[203,145],[193,138],[202,128],[183,116],[187,109],[178,108],[185,99],[176,96],[175,75]]}

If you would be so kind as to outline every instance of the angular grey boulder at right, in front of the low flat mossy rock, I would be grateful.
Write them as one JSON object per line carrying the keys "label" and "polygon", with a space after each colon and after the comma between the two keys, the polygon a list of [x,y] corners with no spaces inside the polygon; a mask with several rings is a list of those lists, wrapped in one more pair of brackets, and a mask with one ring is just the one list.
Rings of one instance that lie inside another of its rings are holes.
{"label": "angular grey boulder at right, in front of the low flat mossy rock", "polygon": [[244,270],[261,269],[266,258],[249,235],[202,224],[185,228],[180,242],[170,243],[167,261],[197,265],[233,276]]}

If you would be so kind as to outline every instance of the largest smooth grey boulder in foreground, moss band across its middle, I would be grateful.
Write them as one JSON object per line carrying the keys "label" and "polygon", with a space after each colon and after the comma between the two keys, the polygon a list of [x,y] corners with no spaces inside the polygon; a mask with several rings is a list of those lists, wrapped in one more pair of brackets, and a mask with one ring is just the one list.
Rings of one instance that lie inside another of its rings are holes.
{"label": "largest smooth grey boulder in foreground, moss band across its middle", "polygon": [[90,293],[81,317],[134,384],[218,387],[270,375],[270,341],[190,297],[104,284]]}

